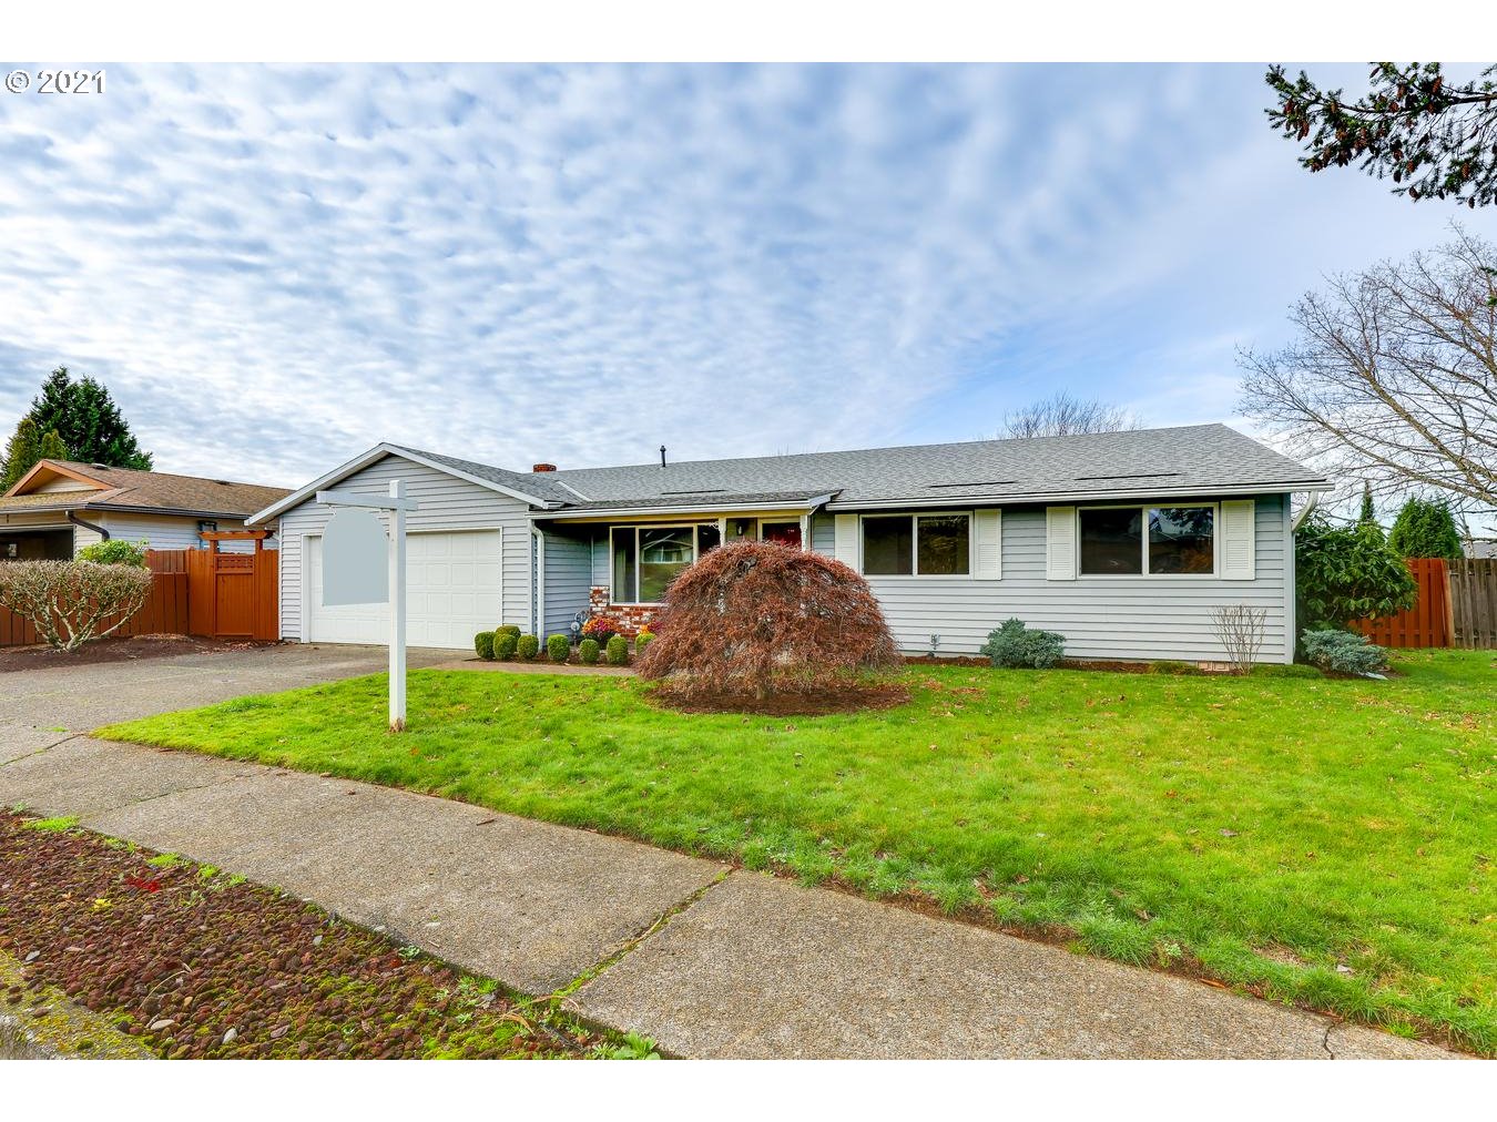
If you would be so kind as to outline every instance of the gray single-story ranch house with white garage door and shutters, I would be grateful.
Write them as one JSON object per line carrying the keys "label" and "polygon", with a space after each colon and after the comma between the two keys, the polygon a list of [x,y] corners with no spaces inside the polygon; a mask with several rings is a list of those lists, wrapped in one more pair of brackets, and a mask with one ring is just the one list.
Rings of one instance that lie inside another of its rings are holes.
{"label": "gray single-story ranch house with white garage door and shutters", "polygon": [[404,480],[407,636],[470,648],[609,610],[647,621],[671,579],[735,539],[816,549],[862,573],[910,654],[975,654],[1009,616],[1076,658],[1214,661],[1211,609],[1266,610],[1266,661],[1295,636],[1290,495],[1314,471],[1223,425],[558,471],[377,444],[253,515],[280,521],[289,640],[383,643],[382,606],[322,604],[319,489]]}

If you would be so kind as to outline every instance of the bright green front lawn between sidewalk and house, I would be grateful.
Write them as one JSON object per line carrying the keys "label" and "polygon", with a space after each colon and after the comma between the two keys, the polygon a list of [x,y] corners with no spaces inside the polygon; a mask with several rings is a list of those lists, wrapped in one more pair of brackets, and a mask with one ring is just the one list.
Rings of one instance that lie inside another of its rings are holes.
{"label": "bright green front lawn between sidewalk and house", "polygon": [[1494,667],[940,667],[910,672],[910,705],[816,718],[669,714],[627,678],[421,670],[401,736],[380,676],[99,735],[918,890],[1494,1055]]}

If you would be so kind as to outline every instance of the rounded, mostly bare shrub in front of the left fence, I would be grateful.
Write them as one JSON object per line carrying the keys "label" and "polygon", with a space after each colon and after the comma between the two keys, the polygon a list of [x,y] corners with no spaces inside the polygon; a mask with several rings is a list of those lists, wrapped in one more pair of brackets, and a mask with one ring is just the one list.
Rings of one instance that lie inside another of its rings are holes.
{"label": "rounded, mostly bare shrub in front of the left fence", "polygon": [[103,639],[139,612],[150,594],[151,573],[136,565],[0,562],[0,606],[30,619],[57,651]]}

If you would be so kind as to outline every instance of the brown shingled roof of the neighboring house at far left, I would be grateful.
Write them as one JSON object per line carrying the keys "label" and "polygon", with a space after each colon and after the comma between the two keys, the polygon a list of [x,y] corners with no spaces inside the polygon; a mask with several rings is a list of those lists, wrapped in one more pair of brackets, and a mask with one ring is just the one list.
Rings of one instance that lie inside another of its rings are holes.
{"label": "brown shingled roof of the neighboring house at far left", "polygon": [[[69,480],[66,491],[37,491]],[[135,510],[244,518],[284,497],[286,488],[169,471],[43,459],[0,498],[3,510]]]}

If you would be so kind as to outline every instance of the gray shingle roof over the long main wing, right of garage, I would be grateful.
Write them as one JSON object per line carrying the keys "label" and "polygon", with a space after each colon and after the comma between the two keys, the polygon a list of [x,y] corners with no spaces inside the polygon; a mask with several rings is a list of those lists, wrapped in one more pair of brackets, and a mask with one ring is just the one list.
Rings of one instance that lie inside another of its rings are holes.
{"label": "gray shingle roof over the long main wing, right of garage", "polygon": [[829,506],[853,507],[1329,486],[1226,425],[575,468],[534,477],[576,492],[567,507],[579,512],[645,500],[669,507],[828,492]]}

